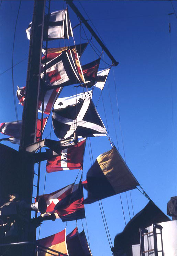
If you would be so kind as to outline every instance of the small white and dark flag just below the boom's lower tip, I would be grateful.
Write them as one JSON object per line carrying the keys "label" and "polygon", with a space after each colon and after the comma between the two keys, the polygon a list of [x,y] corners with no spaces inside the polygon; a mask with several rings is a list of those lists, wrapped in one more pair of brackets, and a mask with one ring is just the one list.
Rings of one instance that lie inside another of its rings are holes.
{"label": "small white and dark flag just below the boom's lower tip", "polygon": [[[110,68],[106,68],[104,70],[98,71],[97,76],[92,81],[88,81],[85,84],[80,84],[78,86],[85,87],[85,88],[91,88],[92,86],[95,86],[99,88],[100,90],[103,90],[104,84],[106,83],[106,79],[108,77]],[[84,72],[84,70],[83,70]],[[76,87],[78,87],[76,86]]]}

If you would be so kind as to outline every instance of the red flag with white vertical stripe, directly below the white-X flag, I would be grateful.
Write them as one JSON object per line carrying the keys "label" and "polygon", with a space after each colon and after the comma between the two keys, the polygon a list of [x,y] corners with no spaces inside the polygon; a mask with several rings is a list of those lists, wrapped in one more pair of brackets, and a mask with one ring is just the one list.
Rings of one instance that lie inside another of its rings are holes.
{"label": "red flag with white vertical stripe, directly below the white-X flag", "polygon": [[47,160],[46,171],[56,172],[63,170],[82,169],[86,145],[86,138],[78,141],[76,145],[61,151],[60,156],[54,156]]}

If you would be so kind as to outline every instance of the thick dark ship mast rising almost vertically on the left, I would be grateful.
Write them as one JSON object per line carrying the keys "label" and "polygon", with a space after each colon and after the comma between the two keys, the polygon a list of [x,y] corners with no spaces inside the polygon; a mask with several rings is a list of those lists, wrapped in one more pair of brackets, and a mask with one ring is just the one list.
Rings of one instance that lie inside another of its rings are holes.
{"label": "thick dark ship mast rising almost vertically on the left", "polygon": [[[26,95],[22,115],[22,132],[19,152],[25,161],[22,161],[21,172],[26,173],[24,180],[25,191],[23,191],[24,200],[27,203],[32,203],[33,193],[33,177],[34,177],[34,160],[33,156],[25,151],[27,145],[36,141],[37,113],[38,113],[38,95],[40,88],[40,73],[41,73],[41,55],[44,30],[44,15],[45,15],[45,0],[34,1],[33,19],[31,27],[31,38],[29,57],[27,65],[26,78]],[[24,232],[21,241],[35,241],[36,228],[33,232],[29,232],[31,211],[27,212],[27,223],[24,227]],[[25,246],[24,246],[25,251]],[[28,255],[27,251],[22,255]],[[30,255],[30,252],[29,252]]]}

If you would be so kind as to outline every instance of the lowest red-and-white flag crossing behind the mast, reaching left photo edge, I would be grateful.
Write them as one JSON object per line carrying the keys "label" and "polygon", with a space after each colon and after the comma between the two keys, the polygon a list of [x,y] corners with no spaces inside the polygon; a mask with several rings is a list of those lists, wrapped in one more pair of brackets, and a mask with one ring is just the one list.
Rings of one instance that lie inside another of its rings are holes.
{"label": "lowest red-and-white flag crossing behind the mast, reaching left photo edge", "polygon": [[[47,119],[43,118],[43,130],[46,126]],[[0,132],[4,135],[11,136],[12,138],[8,138],[12,143],[19,144],[20,143],[20,136],[21,136],[21,129],[22,129],[22,121],[13,121],[13,122],[3,122],[0,124]],[[41,119],[37,119],[37,131],[36,131],[36,141],[39,140],[41,136]],[[3,139],[4,140],[4,139]]]}

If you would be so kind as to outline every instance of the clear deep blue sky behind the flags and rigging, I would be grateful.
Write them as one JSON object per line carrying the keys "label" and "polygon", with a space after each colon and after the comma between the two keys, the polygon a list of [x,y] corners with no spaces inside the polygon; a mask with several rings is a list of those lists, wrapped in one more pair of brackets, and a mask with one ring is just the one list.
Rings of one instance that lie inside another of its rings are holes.
{"label": "clear deep blue sky behind the flags and rigging", "polygon": [[[172,2],[177,12],[177,2]],[[13,36],[19,3],[20,1],[1,2],[0,73],[12,66]],[[84,17],[88,19],[79,1],[74,1],[74,3]],[[177,169],[177,18],[175,14],[168,16],[168,13],[174,12],[172,4],[170,1],[81,1],[81,4],[99,31],[104,43],[114,58],[119,61],[119,65],[114,67],[114,75],[126,163],[146,193],[166,213],[166,203],[170,200],[170,196],[177,195],[177,175],[175,176]],[[65,7],[66,3],[63,1],[51,1],[51,11],[61,10]],[[15,35],[14,64],[28,56],[29,40],[27,40],[25,29],[32,20],[32,13],[33,1],[22,1]],[[70,8],[69,15],[71,25],[78,24],[77,17]],[[171,23],[171,43],[168,32],[169,22]],[[89,32],[86,33],[90,38]],[[81,35],[82,38],[85,38],[83,31]],[[78,28],[74,30],[74,37],[76,43],[79,43],[80,40],[85,42],[79,37]],[[67,40],[65,43],[67,44]],[[72,43],[73,41],[70,39],[70,44]],[[101,51],[95,40],[93,40],[93,44]],[[49,44],[50,47],[57,47],[58,45],[59,40]],[[96,53],[88,46],[81,58],[81,63],[86,64],[96,58]],[[111,64],[106,54],[104,54],[104,58],[106,62]],[[100,67],[104,68],[104,63],[100,63]],[[25,86],[26,70],[27,59],[14,67],[15,93],[17,85]],[[0,82],[0,122],[15,121],[12,70],[2,74]],[[108,86],[119,151],[124,157],[112,69],[108,83],[103,90],[103,100],[109,134],[117,146]],[[77,93],[79,92],[78,89]],[[76,94],[76,89],[69,86],[63,89],[61,97],[72,94]],[[99,95],[100,90],[95,88],[93,93],[95,104]],[[17,98],[16,104],[18,104]],[[23,107],[17,105],[17,109],[19,120],[21,120]],[[97,110],[106,125],[101,99]],[[50,127],[51,116],[44,132],[44,138],[49,134]],[[1,135],[1,138],[4,137]],[[54,132],[51,138],[57,139]],[[10,142],[2,143],[18,150],[18,145],[13,145]],[[100,153],[110,149],[110,144],[104,137],[91,138],[91,145],[94,160]],[[87,144],[83,168],[84,178],[86,178],[90,166]],[[78,170],[47,174],[45,193],[51,193],[73,183],[77,173]],[[41,168],[40,194],[43,193],[44,178],[45,162],[42,163]],[[85,192],[85,196],[86,194]],[[134,213],[137,213],[148,200],[137,190],[133,190],[131,195]],[[126,222],[128,222],[130,218],[125,193],[121,196]],[[132,217],[129,192],[127,196]],[[102,203],[113,242],[115,235],[121,232],[125,226],[120,196],[115,195],[104,199]],[[98,202],[86,205],[85,211],[93,256],[111,255]],[[83,220],[83,224],[87,233],[85,220]],[[67,233],[73,230],[75,225],[76,222],[68,222]],[[64,228],[65,223],[62,223],[61,220],[45,222],[41,226],[40,238],[57,233]],[[79,231],[82,230],[80,220],[78,221],[78,228]]]}

